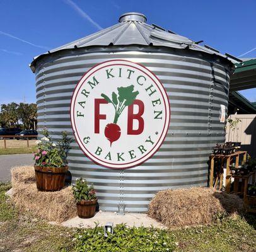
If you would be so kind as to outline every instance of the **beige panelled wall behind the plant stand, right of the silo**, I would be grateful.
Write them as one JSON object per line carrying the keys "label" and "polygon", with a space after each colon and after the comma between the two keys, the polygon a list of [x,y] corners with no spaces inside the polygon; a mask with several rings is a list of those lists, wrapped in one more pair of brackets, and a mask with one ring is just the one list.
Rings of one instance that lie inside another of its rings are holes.
{"label": "beige panelled wall behind the plant stand, right of the silo", "polygon": [[241,149],[256,157],[256,115],[230,115],[230,118],[239,118],[241,122],[235,130],[227,123],[226,142],[241,142]]}

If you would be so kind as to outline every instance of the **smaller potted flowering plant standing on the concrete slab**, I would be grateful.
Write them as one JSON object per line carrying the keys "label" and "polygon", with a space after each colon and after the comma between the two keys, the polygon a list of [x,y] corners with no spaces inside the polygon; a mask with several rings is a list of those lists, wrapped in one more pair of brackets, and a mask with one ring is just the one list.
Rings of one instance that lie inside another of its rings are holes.
{"label": "smaller potted flowering plant standing on the concrete slab", "polygon": [[83,178],[76,179],[76,184],[72,186],[73,195],[78,207],[80,218],[91,218],[95,215],[97,197],[93,185],[88,186]]}

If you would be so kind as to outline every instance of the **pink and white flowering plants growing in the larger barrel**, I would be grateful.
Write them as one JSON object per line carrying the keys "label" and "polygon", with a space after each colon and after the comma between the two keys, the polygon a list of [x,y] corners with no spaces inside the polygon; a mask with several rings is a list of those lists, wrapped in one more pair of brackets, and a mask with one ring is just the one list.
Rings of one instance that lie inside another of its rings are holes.
{"label": "pink and white flowering plants growing in the larger barrel", "polygon": [[42,137],[37,140],[38,151],[34,153],[36,166],[50,166],[60,168],[67,165],[67,154],[73,140],[62,132],[62,139],[56,143],[51,139],[47,129],[42,130]]}

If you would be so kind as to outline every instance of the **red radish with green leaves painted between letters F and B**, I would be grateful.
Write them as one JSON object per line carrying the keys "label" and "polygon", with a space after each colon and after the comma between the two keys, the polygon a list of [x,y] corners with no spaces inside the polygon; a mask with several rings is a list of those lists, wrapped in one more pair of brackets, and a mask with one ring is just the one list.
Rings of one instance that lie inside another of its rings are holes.
{"label": "red radish with green leaves painted between letters F and B", "polygon": [[113,107],[115,108],[115,118],[113,119],[113,123],[108,123],[105,127],[105,137],[110,142],[110,147],[112,143],[117,141],[121,135],[121,129],[119,125],[117,125],[117,121],[124,111],[126,106],[131,105],[136,96],[139,94],[139,91],[134,92],[134,85],[127,86],[127,87],[119,87],[117,88],[118,91],[118,98],[115,92],[112,92],[112,100],[107,96],[102,94],[102,97],[108,102],[112,103]]}

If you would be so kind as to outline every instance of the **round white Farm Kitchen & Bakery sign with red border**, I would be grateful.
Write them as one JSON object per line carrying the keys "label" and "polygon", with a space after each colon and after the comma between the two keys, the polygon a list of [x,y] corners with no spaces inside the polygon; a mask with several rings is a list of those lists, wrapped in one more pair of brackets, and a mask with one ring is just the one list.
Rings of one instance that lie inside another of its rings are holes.
{"label": "round white Farm Kitchen & Bakery sign with red border", "polygon": [[134,62],[98,64],[74,89],[74,135],[84,154],[102,166],[126,169],[143,163],[161,146],[169,122],[163,85]]}

